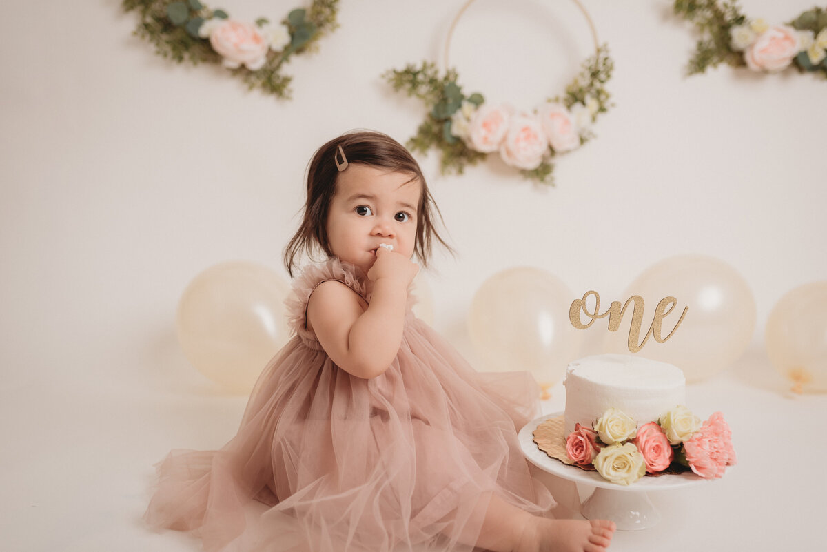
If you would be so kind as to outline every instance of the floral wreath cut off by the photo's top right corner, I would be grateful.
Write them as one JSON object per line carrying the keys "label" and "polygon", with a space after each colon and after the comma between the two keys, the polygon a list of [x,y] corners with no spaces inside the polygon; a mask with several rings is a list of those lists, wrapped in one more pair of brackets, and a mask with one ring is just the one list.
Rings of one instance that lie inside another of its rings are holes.
{"label": "floral wreath cut off by the photo's top right corner", "polygon": [[720,63],[766,73],[795,64],[801,73],[827,77],[827,8],[814,7],[776,25],[749,19],[736,0],[675,0],[674,11],[693,22],[701,36],[688,74]]}

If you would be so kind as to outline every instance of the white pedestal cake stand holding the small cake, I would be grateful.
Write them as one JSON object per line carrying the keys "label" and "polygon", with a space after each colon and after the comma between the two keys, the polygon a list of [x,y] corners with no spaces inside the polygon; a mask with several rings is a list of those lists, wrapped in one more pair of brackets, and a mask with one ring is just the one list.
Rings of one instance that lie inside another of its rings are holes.
{"label": "white pedestal cake stand holding the small cake", "polygon": [[519,432],[519,444],[529,462],[540,469],[573,483],[582,483],[595,488],[595,492],[581,505],[581,514],[586,519],[611,520],[622,531],[648,529],[657,525],[661,515],[648,493],[666,491],[674,488],[689,487],[707,480],[695,473],[665,473],[657,477],[643,477],[629,486],[610,483],[594,471],[586,471],[563,464],[553,459],[534,442],[534,430],[543,421],[562,416],[562,412],[548,414],[529,421]]}

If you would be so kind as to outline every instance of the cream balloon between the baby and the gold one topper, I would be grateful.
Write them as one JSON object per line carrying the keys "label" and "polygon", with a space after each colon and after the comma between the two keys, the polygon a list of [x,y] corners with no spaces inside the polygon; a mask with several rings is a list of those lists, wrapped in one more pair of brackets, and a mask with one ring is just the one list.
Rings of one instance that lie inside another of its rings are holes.
{"label": "cream balloon between the baby and the gold one topper", "polygon": [[488,369],[529,370],[544,388],[562,379],[581,335],[568,320],[571,291],[541,269],[494,274],[471,301],[468,332]]}

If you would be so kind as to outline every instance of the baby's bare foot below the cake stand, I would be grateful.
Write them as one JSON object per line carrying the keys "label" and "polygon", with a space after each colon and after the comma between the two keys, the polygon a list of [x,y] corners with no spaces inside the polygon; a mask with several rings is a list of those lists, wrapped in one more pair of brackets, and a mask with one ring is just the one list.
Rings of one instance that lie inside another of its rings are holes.
{"label": "baby's bare foot below the cake stand", "polygon": [[603,552],[614,535],[614,521],[538,520],[536,533],[526,535],[521,552]]}

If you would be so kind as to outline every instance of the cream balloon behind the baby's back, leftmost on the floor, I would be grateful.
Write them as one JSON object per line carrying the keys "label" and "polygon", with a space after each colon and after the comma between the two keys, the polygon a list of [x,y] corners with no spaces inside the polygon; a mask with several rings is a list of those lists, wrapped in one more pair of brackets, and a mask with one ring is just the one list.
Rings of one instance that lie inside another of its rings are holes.
{"label": "cream balloon behind the baby's back, leftmost on the floor", "polygon": [[289,285],[267,267],[243,261],[198,274],[178,304],[178,340],[199,372],[232,393],[249,393],[287,342]]}

